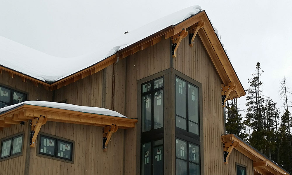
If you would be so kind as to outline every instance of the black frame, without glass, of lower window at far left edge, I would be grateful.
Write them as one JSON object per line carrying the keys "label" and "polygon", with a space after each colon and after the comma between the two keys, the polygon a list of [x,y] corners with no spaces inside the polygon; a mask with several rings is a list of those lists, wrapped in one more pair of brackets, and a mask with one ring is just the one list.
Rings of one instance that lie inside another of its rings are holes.
{"label": "black frame, without glass, of lower window at far left edge", "polygon": [[[13,149],[12,149],[13,148],[13,139],[18,138],[20,136],[22,136],[21,151],[19,153],[13,154],[12,153],[12,151],[13,151]],[[0,147],[0,162],[1,161],[4,161],[4,160],[12,159],[14,157],[18,157],[18,156],[23,155],[24,139],[25,139],[24,138],[24,132],[20,132],[20,133],[17,133],[17,134],[13,134],[11,136],[8,136],[8,137],[5,137],[5,138],[0,139],[0,143],[1,143],[1,147]],[[7,156],[1,157],[3,142],[8,141],[8,140],[11,140],[10,153]]]}

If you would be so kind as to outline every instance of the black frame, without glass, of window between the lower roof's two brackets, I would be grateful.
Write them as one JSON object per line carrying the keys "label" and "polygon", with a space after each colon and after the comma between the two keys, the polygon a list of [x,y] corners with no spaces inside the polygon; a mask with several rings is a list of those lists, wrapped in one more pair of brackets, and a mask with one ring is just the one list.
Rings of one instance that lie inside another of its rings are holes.
{"label": "black frame, without glass, of window between the lower roof's two brackets", "polygon": [[[45,137],[47,139],[55,140],[54,155],[41,152],[41,138],[42,137]],[[58,156],[59,141],[64,142],[64,143],[69,143],[69,144],[72,145],[72,147],[70,148],[71,149],[71,155],[70,155],[71,158],[70,159]],[[59,137],[59,136],[54,136],[54,135],[47,134],[47,133],[42,133],[42,132],[40,132],[39,135],[38,135],[37,153],[36,153],[37,156],[46,157],[46,158],[49,158],[49,159],[59,160],[59,161],[63,161],[63,162],[74,163],[74,152],[75,152],[74,149],[75,149],[75,141],[73,141],[73,140],[69,140],[69,139],[66,139],[66,138],[62,138],[62,137]]]}

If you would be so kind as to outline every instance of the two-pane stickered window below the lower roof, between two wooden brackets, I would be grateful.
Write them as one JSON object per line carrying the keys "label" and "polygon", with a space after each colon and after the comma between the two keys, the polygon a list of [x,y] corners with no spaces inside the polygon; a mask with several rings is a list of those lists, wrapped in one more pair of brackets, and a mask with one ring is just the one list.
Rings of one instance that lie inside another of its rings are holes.
{"label": "two-pane stickered window below the lower roof, between two wooden brackets", "polygon": [[72,161],[73,141],[46,135],[40,135],[39,139],[39,154]]}

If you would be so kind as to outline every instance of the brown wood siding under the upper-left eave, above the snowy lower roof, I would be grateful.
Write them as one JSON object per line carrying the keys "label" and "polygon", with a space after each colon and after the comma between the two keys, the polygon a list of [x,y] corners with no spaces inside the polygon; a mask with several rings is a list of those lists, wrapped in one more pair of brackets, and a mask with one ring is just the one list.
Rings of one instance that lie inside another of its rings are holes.
{"label": "brown wood siding under the upper-left eave, above the snowy lower roof", "polygon": [[12,78],[6,71],[0,74],[0,84],[27,93],[27,100],[52,101],[53,92],[47,91],[40,84],[36,87],[30,80],[25,83],[19,76]]}

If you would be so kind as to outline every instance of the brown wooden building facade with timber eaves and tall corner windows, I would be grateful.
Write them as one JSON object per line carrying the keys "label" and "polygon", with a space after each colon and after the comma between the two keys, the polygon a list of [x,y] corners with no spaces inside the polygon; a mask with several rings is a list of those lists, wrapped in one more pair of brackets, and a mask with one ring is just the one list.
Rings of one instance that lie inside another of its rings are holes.
{"label": "brown wooden building facade with timber eaves and tall corner windows", "polygon": [[[51,84],[0,69],[0,87],[26,100],[107,108],[137,119],[114,132],[103,151],[110,124],[48,118],[31,147],[32,119],[24,115],[20,125],[13,116],[21,111],[0,112],[1,143],[23,134],[20,153],[0,159],[0,174],[288,174],[235,136],[222,136],[225,101],[245,91],[204,11]],[[40,154],[40,135],[72,143],[72,160]]]}

